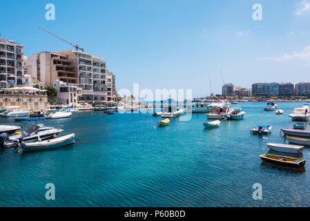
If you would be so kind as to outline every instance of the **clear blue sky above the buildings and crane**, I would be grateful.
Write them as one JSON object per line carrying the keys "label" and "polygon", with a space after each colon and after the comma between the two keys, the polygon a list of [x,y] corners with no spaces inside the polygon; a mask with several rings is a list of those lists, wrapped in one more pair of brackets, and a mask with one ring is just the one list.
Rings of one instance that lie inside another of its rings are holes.
{"label": "clear blue sky above the buildings and crane", "polygon": [[[308,1],[308,2],[307,2]],[[225,83],[310,81],[310,0],[3,1],[3,38],[25,46],[25,55],[72,47],[43,26],[104,57],[117,90],[192,88],[214,93]],[[56,20],[46,21],[54,3]],[[252,6],[262,4],[262,21]]]}

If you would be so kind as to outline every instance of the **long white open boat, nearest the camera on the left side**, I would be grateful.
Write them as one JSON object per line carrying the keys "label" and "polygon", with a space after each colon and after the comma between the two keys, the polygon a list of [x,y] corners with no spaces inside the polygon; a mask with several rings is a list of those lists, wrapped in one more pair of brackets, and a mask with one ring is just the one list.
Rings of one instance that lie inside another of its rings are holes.
{"label": "long white open boat, nearest the camera on the left side", "polygon": [[66,146],[69,144],[75,143],[75,134],[71,133],[66,136],[57,137],[52,140],[44,140],[41,142],[32,142],[32,143],[25,143],[22,142],[21,150],[22,151],[43,151],[52,148],[58,148],[61,146]]}

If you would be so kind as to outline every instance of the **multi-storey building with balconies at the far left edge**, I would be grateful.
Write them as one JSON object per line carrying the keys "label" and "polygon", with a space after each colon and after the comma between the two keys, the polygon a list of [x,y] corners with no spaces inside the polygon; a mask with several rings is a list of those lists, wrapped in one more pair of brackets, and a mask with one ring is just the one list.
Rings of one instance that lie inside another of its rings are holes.
{"label": "multi-storey building with balconies at the far left edge", "polygon": [[0,88],[22,86],[23,80],[23,45],[0,39]]}

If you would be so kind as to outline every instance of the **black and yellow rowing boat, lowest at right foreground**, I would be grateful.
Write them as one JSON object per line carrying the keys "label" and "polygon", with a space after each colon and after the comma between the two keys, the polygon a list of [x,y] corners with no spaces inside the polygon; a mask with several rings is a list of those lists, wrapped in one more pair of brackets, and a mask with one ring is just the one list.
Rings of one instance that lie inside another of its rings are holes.
{"label": "black and yellow rowing boat, lowest at right foreground", "polygon": [[304,166],[306,160],[293,158],[293,157],[284,157],[279,155],[263,154],[260,155],[260,159],[266,162],[271,162],[273,164],[278,164],[281,166],[293,166],[299,167]]}

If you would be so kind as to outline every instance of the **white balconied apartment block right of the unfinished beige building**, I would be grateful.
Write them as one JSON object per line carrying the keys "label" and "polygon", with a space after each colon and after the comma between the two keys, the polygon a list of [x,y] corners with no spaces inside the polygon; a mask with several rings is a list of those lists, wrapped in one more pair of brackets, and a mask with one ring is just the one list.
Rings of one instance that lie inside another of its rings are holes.
{"label": "white balconied apartment block right of the unfinished beige building", "polygon": [[77,71],[81,96],[79,102],[108,102],[115,100],[115,76],[106,69],[106,61],[96,55],[77,50],[64,50],[62,54],[77,56]]}

